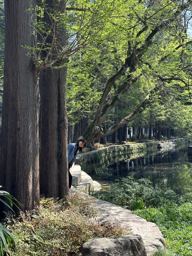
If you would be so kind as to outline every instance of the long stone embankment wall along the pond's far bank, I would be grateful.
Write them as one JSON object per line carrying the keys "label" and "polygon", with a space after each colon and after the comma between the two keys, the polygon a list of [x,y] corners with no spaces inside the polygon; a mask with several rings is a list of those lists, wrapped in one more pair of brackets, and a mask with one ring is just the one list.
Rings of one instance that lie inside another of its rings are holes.
{"label": "long stone embankment wall along the pond's far bank", "polygon": [[[155,151],[158,147],[158,144],[160,143],[166,143],[171,141],[172,140],[107,146],[104,148],[79,154],[75,160],[75,164],[103,164],[107,159],[121,154],[128,154],[129,158],[135,158],[139,155],[141,156],[141,152],[143,152],[143,155],[145,155],[146,151]],[[171,144],[171,146],[184,144],[186,141],[186,138],[179,138],[176,139],[175,144]],[[140,154],[138,155],[139,152]]]}

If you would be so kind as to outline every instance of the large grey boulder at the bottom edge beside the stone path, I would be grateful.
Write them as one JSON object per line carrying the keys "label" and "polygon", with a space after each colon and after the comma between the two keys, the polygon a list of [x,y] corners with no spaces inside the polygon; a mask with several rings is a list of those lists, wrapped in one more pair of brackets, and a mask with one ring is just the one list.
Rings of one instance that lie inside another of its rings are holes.
{"label": "large grey boulder at the bottom edge beside the stone path", "polygon": [[132,233],[115,237],[95,237],[82,246],[83,256],[147,256],[143,239]]}

